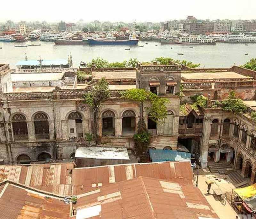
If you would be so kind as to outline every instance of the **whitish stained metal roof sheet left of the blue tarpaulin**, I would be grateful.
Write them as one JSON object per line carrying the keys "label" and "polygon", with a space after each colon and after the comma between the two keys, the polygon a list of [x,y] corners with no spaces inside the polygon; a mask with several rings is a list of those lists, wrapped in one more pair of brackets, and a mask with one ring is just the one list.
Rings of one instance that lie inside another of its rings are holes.
{"label": "whitish stained metal roof sheet left of the blue tarpaulin", "polygon": [[80,147],[75,158],[130,160],[125,147]]}

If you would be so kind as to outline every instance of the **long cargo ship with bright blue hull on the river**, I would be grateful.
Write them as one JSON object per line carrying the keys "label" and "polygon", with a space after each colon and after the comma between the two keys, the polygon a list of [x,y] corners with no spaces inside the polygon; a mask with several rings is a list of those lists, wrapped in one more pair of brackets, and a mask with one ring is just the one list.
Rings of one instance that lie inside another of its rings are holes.
{"label": "long cargo ship with bright blue hull on the river", "polygon": [[139,40],[134,39],[132,37],[129,37],[129,40],[117,40],[115,38],[88,38],[88,43],[89,45],[111,45],[111,46],[116,46],[116,45],[122,45],[122,46],[132,46],[132,45],[137,45]]}

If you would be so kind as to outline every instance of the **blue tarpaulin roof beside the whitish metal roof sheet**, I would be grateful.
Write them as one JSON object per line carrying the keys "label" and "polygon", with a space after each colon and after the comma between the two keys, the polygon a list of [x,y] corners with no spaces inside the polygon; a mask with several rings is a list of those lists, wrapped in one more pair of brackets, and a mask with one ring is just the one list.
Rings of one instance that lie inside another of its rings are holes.
{"label": "blue tarpaulin roof beside the whitish metal roof sheet", "polygon": [[190,160],[191,153],[149,149],[149,156],[152,162]]}

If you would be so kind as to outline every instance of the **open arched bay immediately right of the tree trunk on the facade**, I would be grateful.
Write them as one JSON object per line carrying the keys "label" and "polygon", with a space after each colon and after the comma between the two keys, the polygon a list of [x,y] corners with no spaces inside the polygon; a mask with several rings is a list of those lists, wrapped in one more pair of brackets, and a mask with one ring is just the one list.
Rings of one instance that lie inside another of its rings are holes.
{"label": "open arched bay immediately right of the tree trunk on the facade", "polygon": [[116,116],[110,110],[102,113],[101,127],[102,127],[102,136],[115,136],[116,135]]}

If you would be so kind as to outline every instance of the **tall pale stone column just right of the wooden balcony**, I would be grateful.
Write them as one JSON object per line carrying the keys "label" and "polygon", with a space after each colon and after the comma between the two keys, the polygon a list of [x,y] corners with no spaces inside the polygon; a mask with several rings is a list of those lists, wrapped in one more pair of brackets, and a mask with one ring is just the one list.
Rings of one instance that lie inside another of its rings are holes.
{"label": "tall pale stone column just right of the wooden balcony", "polygon": [[209,148],[210,133],[211,133],[211,116],[204,116],[203,136],[202,136],[201,147],[200,147],[202,168],[206,168],[208,163],[208,148]]}

